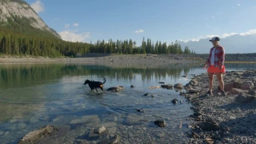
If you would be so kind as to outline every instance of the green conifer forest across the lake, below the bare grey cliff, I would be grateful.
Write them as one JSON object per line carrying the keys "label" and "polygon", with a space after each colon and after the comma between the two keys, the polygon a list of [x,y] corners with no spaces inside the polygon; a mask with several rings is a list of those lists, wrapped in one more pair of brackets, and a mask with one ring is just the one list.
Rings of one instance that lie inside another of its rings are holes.
{"label": "green conifer forest across the lake, below the bare grey cliff", "polygon": [[8,23],[0,22],[0,53],[6,55],[33,55],[33,56],[76,56],[86,53],[195,53],[188,46],[182,50],[179,43],[174,42],[167,45],[157,41],[155,44],[151,39],[143,41],[137,46],[135,41],[98,40],[96,43],[67,42],[58,39],[48,31],[40,30],[30,26],[33,19],[16,18],[8,19]]}

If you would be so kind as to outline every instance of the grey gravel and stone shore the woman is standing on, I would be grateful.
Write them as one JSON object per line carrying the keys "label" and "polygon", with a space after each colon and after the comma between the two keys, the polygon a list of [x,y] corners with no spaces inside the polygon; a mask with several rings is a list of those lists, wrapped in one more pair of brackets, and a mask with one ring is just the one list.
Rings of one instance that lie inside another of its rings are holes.
{"label": "grey gravel and stone shore the woman is standing on", "polygon": [[213,96],[207,73],[194,76],[181,92],[193,105],[186,144],[256,144],[256,70],[231,71],[223,76],[226,96],[215,78]]}

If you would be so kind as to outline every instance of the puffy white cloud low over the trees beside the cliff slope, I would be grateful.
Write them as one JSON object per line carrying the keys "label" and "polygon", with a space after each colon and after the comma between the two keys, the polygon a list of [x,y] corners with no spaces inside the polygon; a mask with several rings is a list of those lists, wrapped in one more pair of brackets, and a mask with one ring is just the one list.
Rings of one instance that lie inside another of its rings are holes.
{"label": "puffy white cloud low over the trees beside the cliff slope", "polygon": [[63,40],[69,42],[85,42],[85,40],[90,37],[89,32],[77,34],[70,30],[61,31],[59,34]]}

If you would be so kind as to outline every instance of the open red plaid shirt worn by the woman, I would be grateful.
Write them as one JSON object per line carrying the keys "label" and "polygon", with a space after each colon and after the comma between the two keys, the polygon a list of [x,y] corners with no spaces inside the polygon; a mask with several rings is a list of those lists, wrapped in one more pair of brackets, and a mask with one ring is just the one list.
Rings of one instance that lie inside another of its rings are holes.
{"label": "open red plaid shirt worn by the woman", "polygon": [[[209,58],[207,59],[207,62],[208,65],[210,66],[211,65],[211,53],[213,52],[213,48],[212,47],[210,49],[210,55],[209,55]],[[225,50],[222,46],[217,46],[217,48],[215,49],[215,53],[214,53],[214,66],[215,67],[219,67],[220,64],[224,64],[224,60],[225,60]]]}

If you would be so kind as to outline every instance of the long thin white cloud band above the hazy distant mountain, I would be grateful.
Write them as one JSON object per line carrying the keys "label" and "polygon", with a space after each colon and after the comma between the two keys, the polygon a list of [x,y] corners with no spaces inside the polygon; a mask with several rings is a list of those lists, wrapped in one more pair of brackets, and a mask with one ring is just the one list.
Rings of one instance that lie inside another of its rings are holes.
{"label": "long thin white cloud band above the hazy distant mountain", "polygon": [[[235,34],[238,34],[238,33],[224,33],[222,35],[206,35],[206,36],[200,36],[199,38],[197,39],[189,39],[189,40],[180,40],[182,42],[188,42],[188,41],[192,41],[192,42],[195,42],[195,41],[199,41],[200,39],[208,39],[208,38],[212,38],[214,36],[218,36],[220,38],[226,38],[226,37],[229,37],[229,36],[234,36]],[[248,35],[256,35],[256,29],[255,30],[249,30],[245,33],[240,33],[239,34],[240,36],[248,36]]]}

